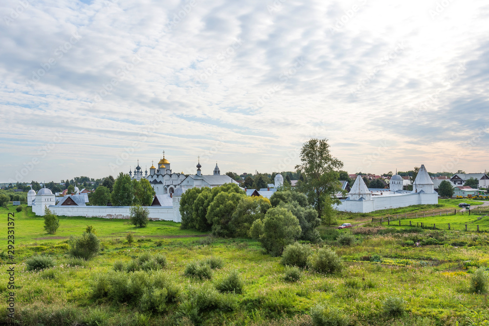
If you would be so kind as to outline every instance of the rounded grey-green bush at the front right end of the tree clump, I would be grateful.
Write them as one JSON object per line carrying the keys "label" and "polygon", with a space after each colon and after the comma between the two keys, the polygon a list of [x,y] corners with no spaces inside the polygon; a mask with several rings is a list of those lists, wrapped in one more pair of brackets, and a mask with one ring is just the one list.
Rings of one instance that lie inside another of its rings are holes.
{"label": "rounded grey-green bush at the front right end of the tree clump", "polygon": [[250,235],[262,243],[272,256],[280,256],[284,247],[301,235],[297,217],[282,207],[271,208],[263,222],[256,220],[251,226]]}

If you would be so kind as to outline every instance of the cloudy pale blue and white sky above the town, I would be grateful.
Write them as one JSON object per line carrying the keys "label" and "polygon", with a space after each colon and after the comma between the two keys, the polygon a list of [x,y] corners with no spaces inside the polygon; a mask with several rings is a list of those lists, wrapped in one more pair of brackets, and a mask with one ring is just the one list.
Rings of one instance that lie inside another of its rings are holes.
{"label": "cloudy pale blue and white sky above the town", "polygon": [[[2,0],[0,182],[488,169],[489,3]],[[489,170],[489,169],[488,169]],[[149,171],[149,170],[148,170]]]}

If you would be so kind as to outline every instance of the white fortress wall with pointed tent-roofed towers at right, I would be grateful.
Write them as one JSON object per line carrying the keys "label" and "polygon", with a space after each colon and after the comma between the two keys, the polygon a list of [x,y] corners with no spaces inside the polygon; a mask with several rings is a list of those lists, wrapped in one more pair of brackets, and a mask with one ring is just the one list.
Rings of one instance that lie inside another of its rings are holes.
{"label": "white fortress wall with pointed tent-roofed towers at right", "polygon": [[403,179],[393,175],[389,189],[368,189],[361,175],[356,177],[346,199],[341,199],[334,208],[352,213],[370,213],[382,209],[406,207],[420,204],[438,204],[438,193],[424,165],[421,166],[413,183],[413,190],[402,190]]}

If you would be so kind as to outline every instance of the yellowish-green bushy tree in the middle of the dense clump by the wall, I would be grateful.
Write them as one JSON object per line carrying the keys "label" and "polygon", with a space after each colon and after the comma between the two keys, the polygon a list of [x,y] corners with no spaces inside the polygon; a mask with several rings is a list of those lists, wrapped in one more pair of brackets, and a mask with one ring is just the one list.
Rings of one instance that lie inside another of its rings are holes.
{"label": "yellowish-green bushy tree in the middle of the dense clump by the wall", "polygon": [[243,193],[220,192],[212,200],[207,210],[207,222],[212,225],[212,234],[219,237],[232,236],[229,221],[234,210],[241,199],[245,198]]}

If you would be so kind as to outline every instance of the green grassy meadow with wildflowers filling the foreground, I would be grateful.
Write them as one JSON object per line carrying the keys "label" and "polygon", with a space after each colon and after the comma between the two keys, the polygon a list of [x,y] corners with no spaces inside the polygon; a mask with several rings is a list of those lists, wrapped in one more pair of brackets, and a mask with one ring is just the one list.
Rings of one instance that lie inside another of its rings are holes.
{"label": "green grassy meadow with wildflowers filling the foreground", "polygon": [[[439,205],[451,209],[462,201],[440,200]],[[0,208],[0,251],[4,253],[8,212],[15,209]],[[477,216],[423,219],[456,223],[445,221],[453,218],[464,218],[465,222]],[[337,217],[338,223],[355,224],[367,219],[370,217],[360,214]],[[42,217],[35,217],[29,209],[15,213],[18,325],[465,326],[485,325],[477,320],[488,318],[487,295],[470,291],[474,271],[489,266],[489,234],[485,232],[387,227],[368,222],[345,230],[322,226],[323,241],[310,246],[314,251],[331,247],[342,258],[343,269],[333,274],[305,269],[299,281],[289,282],[284,279],[286,267],[281,258],[265,254],[259,243],[251,239],[213,238],[180,230],[179,223],[167,221],[150,221],[146,228],[135,228],[127,220],[86,217],[60,220],[56,234],[48,235]],[[68,254],[67,239],[70,235],[81,235],[87,225],[95,228],[102,251],[92,260],[75,260]],[[133,234],[132,245],[125,239],[128,233]],[[418,240],[419,247],[414,245]],[[2,271],[8,261],[4,253],[0,259]],[[151,257],[166,257],[165,267],[114,271],[115,266],[129,266],[148,253]],[[54,267],[28,271],[25,262],[35,256],[50,257]],[[222,262],[210,279],[185,276],[189,262],[209,258]],[[234,271],[243,281],[243,291],[218,292],[216,287]],[[122,300],[117,290],[111,292],[111,286],[116,288],[121,280],[129,280],[133,293],[143,293],[137,292],[139,287],[159,280],[166,284],[164,293],[154,288],[150,293],[153,297],[166,296],[168,300],[152,309],[143,309],[145,295]],[[7,320],[7,283],[8,275],[1,273],[0,321]],[[326,313],[326,320],[334,321],[339,315],[341,318],[336,321],[343,324],[325,324],[324,320],[318,324],[313,320],[311,308],[321,304],[333,309]],[[393,309],[398,305],[402,309]]]}

